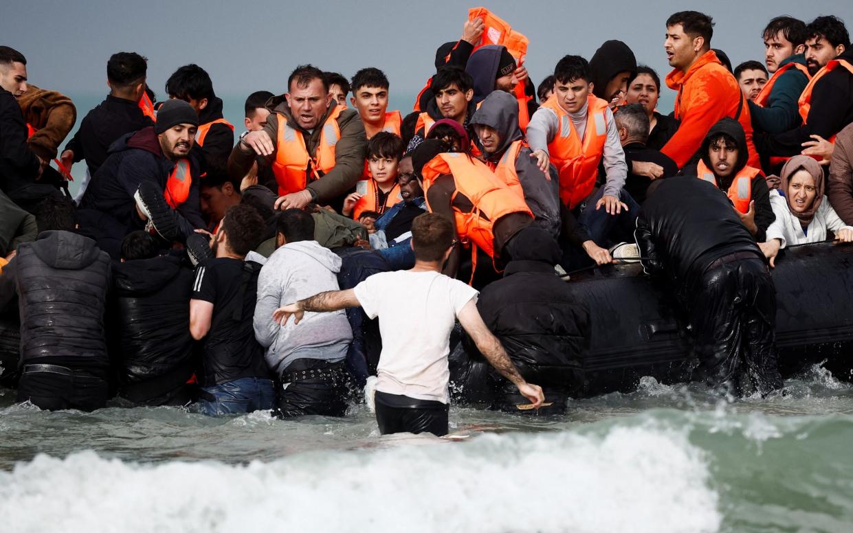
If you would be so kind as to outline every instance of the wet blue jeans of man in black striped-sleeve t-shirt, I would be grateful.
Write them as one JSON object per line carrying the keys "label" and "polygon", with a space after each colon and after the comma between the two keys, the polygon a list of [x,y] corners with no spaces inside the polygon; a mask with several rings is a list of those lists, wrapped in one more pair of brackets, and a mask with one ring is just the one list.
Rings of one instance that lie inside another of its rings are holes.
{"label": "wet blue jeans of man in black striped-sleeve t-shirt", "polygon": [[271,409],[276,403],[276,385],[272,379],[241,378],[203,387],[199,412],[208,416],[243,414]]}

